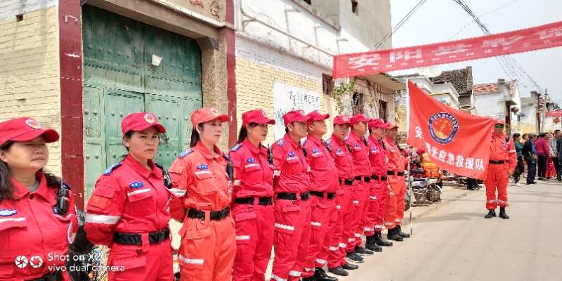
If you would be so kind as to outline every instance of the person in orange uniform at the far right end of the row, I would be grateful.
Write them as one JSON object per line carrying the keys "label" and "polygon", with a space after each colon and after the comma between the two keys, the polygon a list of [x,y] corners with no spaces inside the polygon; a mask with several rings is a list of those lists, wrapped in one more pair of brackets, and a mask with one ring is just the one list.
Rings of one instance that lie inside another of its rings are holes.
{"label": "person in orange uniform at the far right end of the row", "polygon": [[385,223],[388,229],[388,239],[402,241],[403,238],[410,237],[410,234],[403,233],[400,225],[404,218],[404,199],[406,195],[406,181],[404,178],[404,169],[409,161],[402,156],[396,137],[398,136],[398,126],[393,123],[388,124],[386,129],[386,138],[384,138],[384,146],[386,147],[386,157],[388,158],[388,185],[390,190],[388,195],[388,207],[386,209]]}

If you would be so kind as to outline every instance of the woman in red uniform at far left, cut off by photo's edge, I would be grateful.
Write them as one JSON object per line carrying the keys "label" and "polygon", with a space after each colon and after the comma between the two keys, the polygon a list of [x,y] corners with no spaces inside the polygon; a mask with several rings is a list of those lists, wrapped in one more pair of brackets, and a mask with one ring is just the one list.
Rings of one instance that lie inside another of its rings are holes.
{"label": "woman in red uniform at far left, cut off by photo's edge", "polygon": [[23,117],[0,123],[0,280],[69,280],[78,221],[67,185],[43,171],[58,133]]}

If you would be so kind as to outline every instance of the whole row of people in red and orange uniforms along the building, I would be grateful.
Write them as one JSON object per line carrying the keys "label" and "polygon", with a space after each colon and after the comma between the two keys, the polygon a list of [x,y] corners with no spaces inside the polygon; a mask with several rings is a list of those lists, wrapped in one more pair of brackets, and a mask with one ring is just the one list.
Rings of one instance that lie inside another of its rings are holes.
{"label": "whole row of people in red and orange uniforms along the building", "polygon": [[[43,171],[58,133],[27,117],[0,123],[0,280],[85,280],[56,269],[65,259],[53,255],[93,244],[110,247],[108,280],[174,280],[171,218],[183,223],[181,280],[263,281],[272,247],[270,280],[337,280],[324,268],[346,276],[388,240],[410,237],[401,229],[409,159],[396,124],[339,115],[325,136],[328,118],[287,112],[285,136],[266,148],[275,121],[244,112],[227,154],[217,143],[228,117],[204,107],[192,113],[190,148],[166,171],[153,161],[166,129],[149,112],[131,113],[122,120],[128,154],[98,178],[84,220],[70,187]],[[502,192],[496,202],[507,206]]]}

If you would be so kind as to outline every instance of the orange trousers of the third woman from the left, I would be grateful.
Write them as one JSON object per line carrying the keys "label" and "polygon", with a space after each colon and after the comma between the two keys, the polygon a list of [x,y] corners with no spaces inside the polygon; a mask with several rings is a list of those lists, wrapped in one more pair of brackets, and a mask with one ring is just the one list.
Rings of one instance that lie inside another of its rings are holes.
{"label": "orange trousers of the third woman from the left", "polygon": [[185,218],[180,230],[178,261],[181,281],[223,281],[232,276],[236,254],[234,221],[231,216],[211,221]]}

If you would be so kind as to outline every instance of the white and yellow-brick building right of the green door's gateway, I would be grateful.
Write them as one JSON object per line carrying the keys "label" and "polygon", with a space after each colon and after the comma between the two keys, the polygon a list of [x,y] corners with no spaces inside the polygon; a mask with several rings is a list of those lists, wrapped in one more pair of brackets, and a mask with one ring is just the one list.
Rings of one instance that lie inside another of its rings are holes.
{"label": "white and yellow-brick building right of the green door's gateway", "polygon": [[[394,91],[404,89],[400,81],[386,74],[339,81],[331,76],[333,55],[367,51],[391,30],[390,1],[235,0],[235,4],[237,116],[256,108],[273,115],[277,124],[266,143],[285,133],[282,115],[292,108],[332,116],[339,110],[365,112],[395,120]],[[390,40],[383,44],[389,47]],[[354,81],[355,89],[334,98],[332,89],[342,81]]]}

